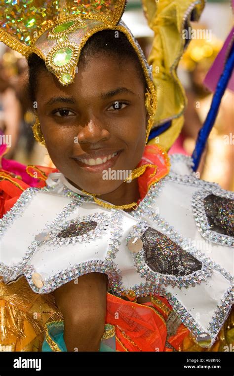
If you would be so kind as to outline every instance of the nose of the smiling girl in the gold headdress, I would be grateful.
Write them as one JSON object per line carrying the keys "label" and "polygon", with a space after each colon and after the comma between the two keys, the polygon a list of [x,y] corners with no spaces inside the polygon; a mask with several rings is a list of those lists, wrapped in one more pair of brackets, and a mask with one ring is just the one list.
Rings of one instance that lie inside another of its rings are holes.
{"label": "nose of the smiling girl in the gold headdress", "polygon": [[110,138],[110,132],[97,118],[92,117],[88,123],[79,127],[77,136],[79,144],[94,144],[108,140]]}

